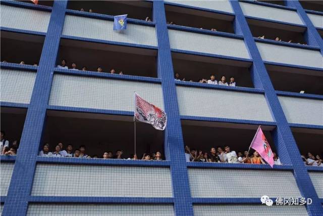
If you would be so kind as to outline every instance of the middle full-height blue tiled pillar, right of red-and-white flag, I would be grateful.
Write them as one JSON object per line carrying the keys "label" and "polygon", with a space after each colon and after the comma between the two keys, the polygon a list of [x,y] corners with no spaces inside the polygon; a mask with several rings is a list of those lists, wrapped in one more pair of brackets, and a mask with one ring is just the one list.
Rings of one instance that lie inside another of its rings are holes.
{"label": "middle full-height blue tiled pillar, right of red-and-white flag", "polygon": [[193,215],[164,1],[153,2],[153,20],[156,23],[158,40],[158,77],[161,78],[164,107],[168,117],[165,153],[171,161],[175,213]]}

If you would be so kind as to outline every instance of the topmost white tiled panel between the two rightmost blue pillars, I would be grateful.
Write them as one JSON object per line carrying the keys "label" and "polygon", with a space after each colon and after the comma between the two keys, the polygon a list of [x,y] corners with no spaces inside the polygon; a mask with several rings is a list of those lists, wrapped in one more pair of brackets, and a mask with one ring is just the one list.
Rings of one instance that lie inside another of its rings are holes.
{"label": "topmost white tiled panel between the two rightmost blue pillars", "polygon": [[303,25],[303,22],[296,11],[254,5],[244,2],[239,2],[239,4],[242,12],[246,16]]}

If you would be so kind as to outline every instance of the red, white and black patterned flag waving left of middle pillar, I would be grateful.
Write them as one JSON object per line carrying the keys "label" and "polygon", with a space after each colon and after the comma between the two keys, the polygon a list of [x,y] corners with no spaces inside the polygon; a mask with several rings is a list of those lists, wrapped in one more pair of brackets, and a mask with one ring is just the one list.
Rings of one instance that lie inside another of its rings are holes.
{"label": "red, white and black patterned flag waving left of middle pillar", "polygon": [[155,129],[164,131],[167,123],[166,113],[160,108],[142,99],[135,93],[135,118],[151,124]]}

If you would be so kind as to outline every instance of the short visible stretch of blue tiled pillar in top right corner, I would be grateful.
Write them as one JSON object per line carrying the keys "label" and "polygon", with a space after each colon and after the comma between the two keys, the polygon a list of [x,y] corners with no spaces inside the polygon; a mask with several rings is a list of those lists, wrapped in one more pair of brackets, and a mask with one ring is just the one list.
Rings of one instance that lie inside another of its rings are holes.
{"label": "short visible stretch of blue tiled pillar in top right corner", "polygon": [[323,40],[316,28],[314,27],[311,20],[308,18],[306,12],[298,1],[285,1],[286,6],[293,7],[297,9],[298,16],[303,20],[304,25],[307,26],[307,30],[305,32],[305,40],[308,45],[319,46],[320,52],[323,55]]}

